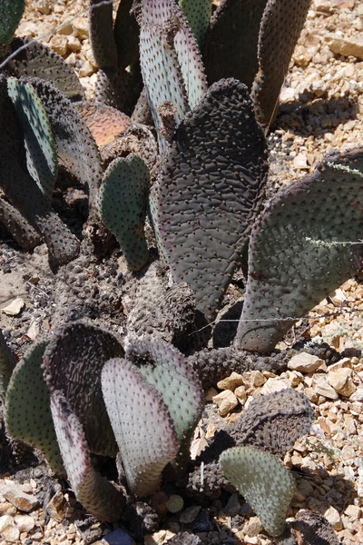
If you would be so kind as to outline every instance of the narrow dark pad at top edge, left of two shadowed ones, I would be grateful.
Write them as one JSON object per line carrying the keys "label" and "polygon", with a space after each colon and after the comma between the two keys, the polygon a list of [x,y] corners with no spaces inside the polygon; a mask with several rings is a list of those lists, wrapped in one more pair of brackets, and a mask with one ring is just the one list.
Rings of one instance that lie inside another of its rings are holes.
{"label": "narrow dark pad at top edge, left of two shadowed ones", "polygon": [[93,57],[99,68],[117,67],[117,49],[113,36],[113,3],[90,0],[88,10]]}

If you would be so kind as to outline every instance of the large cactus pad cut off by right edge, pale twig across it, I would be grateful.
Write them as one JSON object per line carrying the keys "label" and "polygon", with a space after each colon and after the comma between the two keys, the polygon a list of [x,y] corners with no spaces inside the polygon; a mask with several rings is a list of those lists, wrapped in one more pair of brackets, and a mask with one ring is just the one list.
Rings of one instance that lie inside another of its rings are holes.
{"label": "large cactus pad cut off by right edge, pale twig across it", "polygon": [[271,199],[250,235],[237,346],[269,352],[293,323],[361,269],[362,208],[363,147],[328,154]]}

